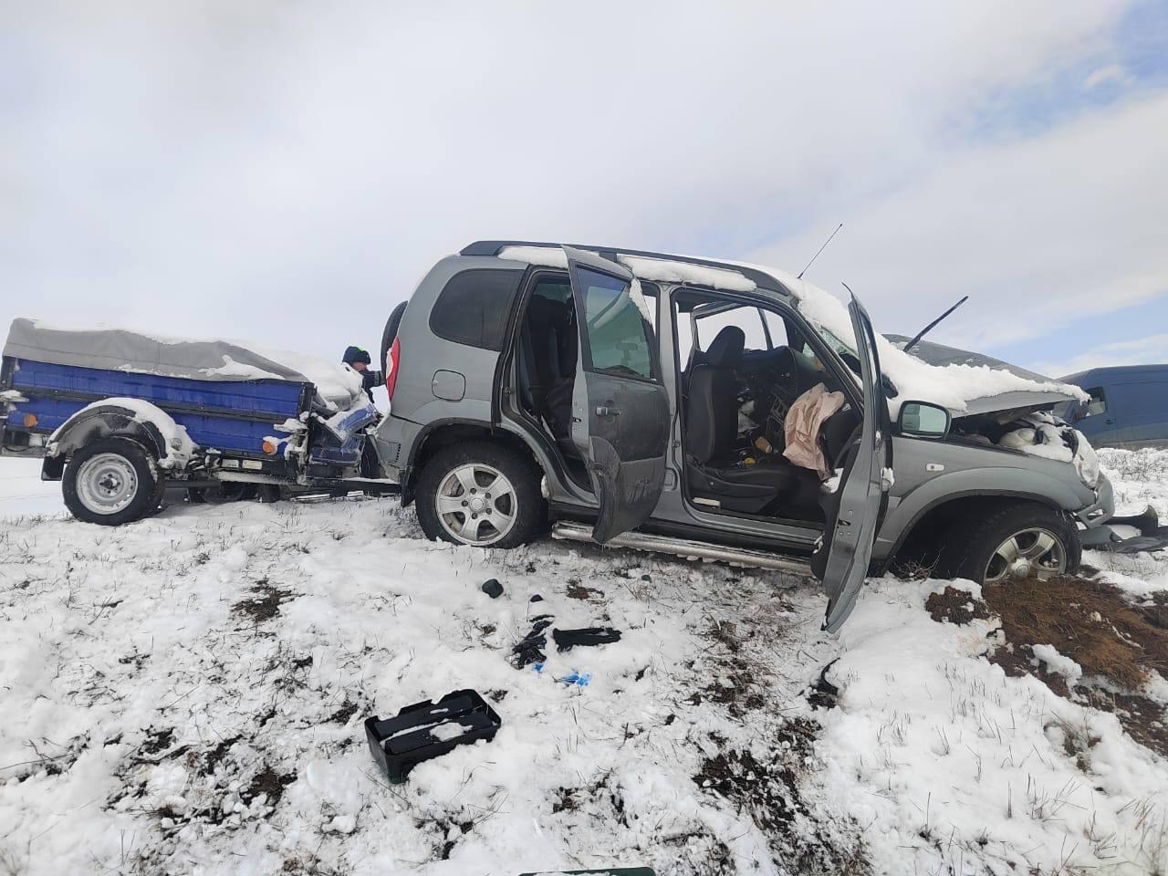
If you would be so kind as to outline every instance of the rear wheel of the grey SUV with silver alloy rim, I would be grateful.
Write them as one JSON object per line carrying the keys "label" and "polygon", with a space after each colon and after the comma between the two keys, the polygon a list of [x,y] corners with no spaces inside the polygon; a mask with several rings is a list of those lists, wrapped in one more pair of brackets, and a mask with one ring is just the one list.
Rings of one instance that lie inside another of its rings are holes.
{"label": "rear wheel of the grey SUV with silver alloy rim", "polygon": [[[473,481],[466,477],[472,471]],[[503,492],[491,494],[492,484],[498,485],[492,479],[498,477],[505,480],[499,486]],[[418,522],[432,541],[480,548],[527,544],[538,534],[545,517],[540,478],[534,463],[499,444],[472,442],[443,447],[418,475]],[[470,487],[472,482],[474,486]],[[473,514],[471,502],[479,505],[478,515]],[[461,529],[467,523],[474,529],[464,536]]]}

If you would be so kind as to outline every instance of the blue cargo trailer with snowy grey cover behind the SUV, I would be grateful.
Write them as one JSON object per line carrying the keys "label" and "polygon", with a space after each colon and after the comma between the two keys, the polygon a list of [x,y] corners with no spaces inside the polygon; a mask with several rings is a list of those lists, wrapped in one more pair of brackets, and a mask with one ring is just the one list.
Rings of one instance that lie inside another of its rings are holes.
{"label": "blue cargo trailer with snowy grey cover behind the SUV", "polygon": [[14,320],[0,364],[0,454],[40,458],[69,510],[116,526],[192,498],[392,492],[347,366],[228,341]]}

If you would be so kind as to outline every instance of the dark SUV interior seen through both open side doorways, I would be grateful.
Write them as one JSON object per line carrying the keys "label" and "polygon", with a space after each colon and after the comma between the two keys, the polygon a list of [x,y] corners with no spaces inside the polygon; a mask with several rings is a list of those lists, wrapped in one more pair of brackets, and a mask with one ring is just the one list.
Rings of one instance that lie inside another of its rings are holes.
{"label": "dark SUV interior seen through both open side doorways", "polygon": [[[651,284],[642,291],[655,296]],[[822,383],[841,389],[792,321],[778,312],[684,290],[673,296],[686,484],[703,510],[819,524],[820,473],[784,457],[791,405]],[[651,308],[652,310],[652,308]],[[535,279],[519,331],[517,401],[559,451],[568,474],[588,486],[571,440],[578,334],[566,274]],[[816,440],[829,468],[842,467],[860,425],[847,403]]]}

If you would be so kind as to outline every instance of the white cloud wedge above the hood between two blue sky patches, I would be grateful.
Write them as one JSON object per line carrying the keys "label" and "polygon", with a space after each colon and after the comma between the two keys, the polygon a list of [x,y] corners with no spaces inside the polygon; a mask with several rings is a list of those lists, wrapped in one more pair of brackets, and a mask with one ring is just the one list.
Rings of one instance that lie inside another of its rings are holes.
{"label": "white cloud wedge above the hood between two blue sky patches", "polygon": [[[968,294],[933,335],[967,349],[1148,300],[1168,291],[1164,141],[1161,92],[1036,137],[953,150],[841,216],[808,279],[847,280],[882,328],[910,334]],[[825,216],[752,259],[801,263],[829,229]]]}

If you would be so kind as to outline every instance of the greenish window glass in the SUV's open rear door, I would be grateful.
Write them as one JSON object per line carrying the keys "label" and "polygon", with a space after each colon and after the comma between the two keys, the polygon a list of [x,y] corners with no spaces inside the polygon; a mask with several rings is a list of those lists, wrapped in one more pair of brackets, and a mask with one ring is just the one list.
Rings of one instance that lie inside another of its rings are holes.
{"label": "greenish window glass in the SUV's open rear door", "polygon": [[[644,296],[634,298],[630,286],[606,273],[579,267],[584,286],[584,322],[592,370],[652,380],[652,308]],[[644,292],[644,290],[641,290]]]}

